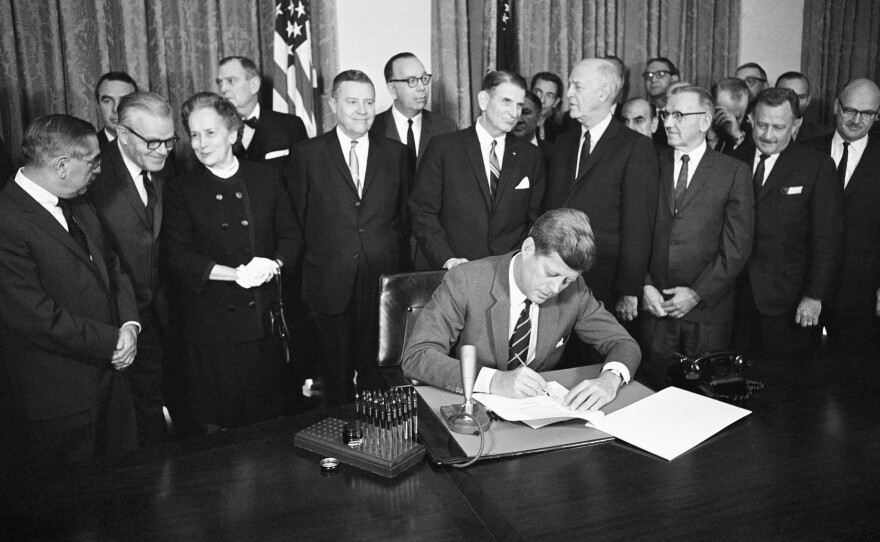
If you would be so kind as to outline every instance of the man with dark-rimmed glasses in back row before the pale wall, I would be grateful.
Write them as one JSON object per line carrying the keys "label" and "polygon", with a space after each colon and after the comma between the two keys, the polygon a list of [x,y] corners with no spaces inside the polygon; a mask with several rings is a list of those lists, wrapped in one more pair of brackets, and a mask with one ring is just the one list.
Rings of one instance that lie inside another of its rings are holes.
{"label": "man with dark-rimmed glasses in back row before the pale wall", "polygon": [[385,64],[385,83],[394,103],[376,115],[370,131],[405,144],[415,171],[431,138],[457,127],[452,119],[425,109],[431,74],[414,54],[391,57]]}

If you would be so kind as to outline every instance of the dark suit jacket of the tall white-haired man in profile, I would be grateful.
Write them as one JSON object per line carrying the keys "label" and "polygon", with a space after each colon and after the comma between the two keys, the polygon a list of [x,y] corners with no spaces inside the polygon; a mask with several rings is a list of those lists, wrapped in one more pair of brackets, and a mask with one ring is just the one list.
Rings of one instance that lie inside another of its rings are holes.
{"label": "dark suit jacket of the tall white-haired man in profile", "polygon": [[657,212],[657,155],[650,139],[611,119],[575,179],[580,137],[571,130],[556,140],[547,209],[571,207],[590,217],[598,254],[584,279],[613,308],[620,295],[641,295]]}

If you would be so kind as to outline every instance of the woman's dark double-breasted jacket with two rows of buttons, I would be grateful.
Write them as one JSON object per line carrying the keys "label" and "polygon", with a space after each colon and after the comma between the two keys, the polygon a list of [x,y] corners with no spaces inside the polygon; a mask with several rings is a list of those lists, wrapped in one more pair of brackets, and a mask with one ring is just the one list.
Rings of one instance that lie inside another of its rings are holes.
{"label": "woman's dark double-breasted jacket with two rows of buttons", "polygon": [[236,268],[260,257],[289,266],[295,260],[300,232],[275,170],[242,160],[235,176],[220,179],[202,166],[168,182],[165,206],[162,236],[183,285],[184,338],[229,344],[266,336],[275,283],[245,289],[209,276],[215,264]]}

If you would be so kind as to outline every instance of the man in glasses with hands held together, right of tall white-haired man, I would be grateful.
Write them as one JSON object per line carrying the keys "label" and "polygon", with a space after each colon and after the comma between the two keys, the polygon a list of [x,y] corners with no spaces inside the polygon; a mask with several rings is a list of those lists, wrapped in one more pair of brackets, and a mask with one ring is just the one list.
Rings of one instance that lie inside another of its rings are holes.
{"label": "man in glasses with hands held together, right of tall white-haired man", "polygon": [[671,149],[660,153],[660,197],[642,298],[646,378],[666,384],[675,352],[726,349],[733,286],[752,245],[754,198],[748,168],[709,148],[715,104],[682,87],[660,113]]}

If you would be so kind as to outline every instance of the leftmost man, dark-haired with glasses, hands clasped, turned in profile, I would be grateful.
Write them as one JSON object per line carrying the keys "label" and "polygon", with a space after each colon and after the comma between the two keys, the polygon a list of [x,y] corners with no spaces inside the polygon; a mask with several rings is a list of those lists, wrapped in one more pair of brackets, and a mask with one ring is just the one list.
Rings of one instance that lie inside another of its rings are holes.
{"label": "leftmost man, dark-haired with glasses, hands clasped, turned in profile", "polygon": [[0,193],[3,379],[14,391],[22,460],[71,463],[132,449],[126,369],[137,351],[137,305],[79,197],[101,168],[97,133],[68,115],[39,117],[22,158]]}

